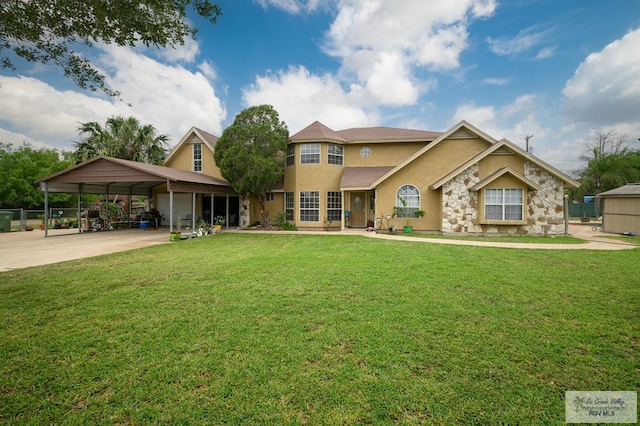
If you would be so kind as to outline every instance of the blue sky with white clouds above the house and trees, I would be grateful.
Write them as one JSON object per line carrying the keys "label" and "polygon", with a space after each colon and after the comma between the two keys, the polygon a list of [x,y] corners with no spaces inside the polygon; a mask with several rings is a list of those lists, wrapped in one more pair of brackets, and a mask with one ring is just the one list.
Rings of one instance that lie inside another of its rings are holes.
{"label": "blue sky with white clouds above the house and trees", "polygon": [[[445,131],[467,120],[570,172],[600,131],[640,138],[640,0],[220,0],[178,49],[85,54],[125,102],[51,66],[0,70],[0,141],[72,149],[79,122],[133,115],[178,143],[273,105],[291,134]],[[131,104],[129,106],[128,104]]]}

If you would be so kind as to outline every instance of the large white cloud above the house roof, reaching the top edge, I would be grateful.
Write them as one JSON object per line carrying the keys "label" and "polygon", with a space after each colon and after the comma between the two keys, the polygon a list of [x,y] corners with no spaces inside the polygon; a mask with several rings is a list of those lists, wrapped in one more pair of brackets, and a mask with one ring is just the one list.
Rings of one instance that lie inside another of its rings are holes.
{"label": "large white cloud above the house roof, reaching the top edge", "polygon": [[[334,3],[256,1],[289,13]],[[292,128],[314,120],[335,128],[375,124],[379,108],[415,105],[436,85],[433,78],[417,78],[418,71],[459,67],[470,21],[491,16],[497,3],[405,0],[398,7],[394,0],[335,0],[335,7],[323,50],[338,58],[339,71],[316,76],[291,67],[259,76],[243,92],[246,104],[274,105]]]}

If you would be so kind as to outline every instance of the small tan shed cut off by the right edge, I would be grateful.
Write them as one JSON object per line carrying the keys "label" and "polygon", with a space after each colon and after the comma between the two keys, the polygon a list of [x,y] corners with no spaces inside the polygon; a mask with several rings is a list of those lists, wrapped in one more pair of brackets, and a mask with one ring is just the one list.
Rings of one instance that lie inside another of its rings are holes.
{"label": "small tan shed cut off by the right edge", "polygon": [[603,204],[603,231],[640,235],[640,183],[628,183],[597,197]]}

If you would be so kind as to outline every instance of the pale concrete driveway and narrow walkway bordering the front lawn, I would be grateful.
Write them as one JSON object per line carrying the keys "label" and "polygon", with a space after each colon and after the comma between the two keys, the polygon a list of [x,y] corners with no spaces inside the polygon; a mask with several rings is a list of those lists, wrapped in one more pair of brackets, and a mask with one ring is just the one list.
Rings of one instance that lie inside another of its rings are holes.
{"label": "pale concrete driveway and narrow walkway bordering the front lawn", "polygon": [[[236,230],[228,230],[224,232],[285,233],[285,231]],[[318,231],[295,231],[291,233],[296,235],[360,235],[368,238],[415,241],[427,244],[455,244],[463,246],[504,247],[515,249],[623,250],[637,247],[624,241],[602,238],[603,236],[613,234],[593,232],[591,230],[591,226],[582,225],[570,225],[569,233],[574,237],[587,240],[588,242],[585,244],[532,244],[447,240],[443,238],[411,237],[401,234],[376,234],[375,232],[366,232],[363,229],[347,229],[340,233]],[[78,234],[77,229],[49,230],[49,237],[47,238],[44,238],[44,232],[40,230],[34,230],[31,232],[0,233],[0,272],[168,243],[168,229],[133,229],[109,232],[88,232],[84,234]]]}

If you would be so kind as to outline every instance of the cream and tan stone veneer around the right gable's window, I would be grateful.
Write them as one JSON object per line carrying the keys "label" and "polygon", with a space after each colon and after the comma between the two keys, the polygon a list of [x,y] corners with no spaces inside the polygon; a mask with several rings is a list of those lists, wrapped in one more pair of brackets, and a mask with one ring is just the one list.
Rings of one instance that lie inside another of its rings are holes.
{"label": "cream and tan stone veneer around the right gable's window", "polygon": [[480,181],[478,165],[442,186],[442,232],[474,234],[561,235],[564,233],[561,180],[533,163],[525,162],[524,176],[536,183],[540,191],[527,191],[526,225],[485,225],[479,223],[478,192],[470,191]]}

